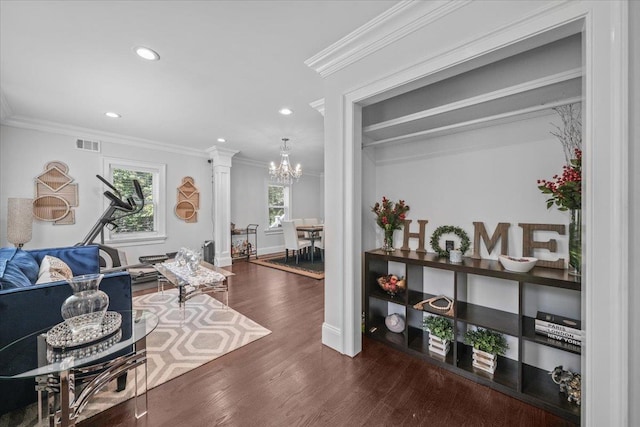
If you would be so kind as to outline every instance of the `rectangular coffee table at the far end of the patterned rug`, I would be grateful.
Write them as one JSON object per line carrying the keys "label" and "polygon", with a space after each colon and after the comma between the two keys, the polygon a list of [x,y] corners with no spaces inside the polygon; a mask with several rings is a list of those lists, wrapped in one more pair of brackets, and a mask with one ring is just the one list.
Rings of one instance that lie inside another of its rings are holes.
{"label": "rectangular coffee table at the far end of the patterned rug", "polygon": [[223,292],[226,296],[225,307],[229,306],[229,282],[227,278],[235,276],[235,273],[204,261],[200,262],[198,269],[194,272],[189,271],[186,266],[181,266],[173,260],[153,264],[153,268],[162,275],[162,278],[158,280],[159,287],[162,285],[162,280],[166,280],[178,288],[178,303],[180,307],[184,307],[184,303],[196,295],[214,292]]}

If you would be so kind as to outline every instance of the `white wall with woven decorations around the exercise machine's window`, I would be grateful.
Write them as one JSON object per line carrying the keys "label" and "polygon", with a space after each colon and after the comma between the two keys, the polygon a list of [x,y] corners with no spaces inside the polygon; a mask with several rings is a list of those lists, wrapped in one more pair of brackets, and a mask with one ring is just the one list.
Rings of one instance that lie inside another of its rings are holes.
{"label": "white wall with woven decorations around the exercise machine's window", "polygon": [[[79,206],[75,208],[73,225],[53,225],[34,221],[33,237],[26,248],[46,248],[73,245],[81,241],[99,216],[104,212],[104,196],[107,189],[95,177],[104,175],[103,157],[119,157],[167,165],[167,239],[164,244],[122,247],[129,262],[137,262],[140,255],[164,254],[181,246],[199,248],[204,240],[212,238],[211,222],[211,169],[204,153],[202,157],[184,155],[102,142],[100,153],[75,148],[74,137],[10,126],[0,127],[0,244],[6,240],[7,198],[34,197],[34,178],[41,174],[46,163],[58,160],[69,167],[69,175],[78,184]],[[174,213],[177,187],[184,176],[195,179],[200,191],[200,210],[197,223],[185,223]],[[99,238],[96,239],[96,242]],[[116,245],[114,245],[116,246]]]}

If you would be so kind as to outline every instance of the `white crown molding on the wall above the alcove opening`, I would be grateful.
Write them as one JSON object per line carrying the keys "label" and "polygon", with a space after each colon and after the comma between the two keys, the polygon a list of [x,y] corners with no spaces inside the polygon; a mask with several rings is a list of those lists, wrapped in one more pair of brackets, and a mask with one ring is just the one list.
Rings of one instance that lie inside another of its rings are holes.
{"label": "white crown molding on the wall above the alcove opening", "polygon": [[472,0],[403,0],[304,63],[322,77],[370,55]]}

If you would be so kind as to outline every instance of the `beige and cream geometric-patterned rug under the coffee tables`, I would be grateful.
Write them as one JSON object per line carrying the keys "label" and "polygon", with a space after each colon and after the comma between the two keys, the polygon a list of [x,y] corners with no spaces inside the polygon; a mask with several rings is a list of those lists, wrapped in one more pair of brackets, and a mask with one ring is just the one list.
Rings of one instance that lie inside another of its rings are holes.
{"label": "beige and cream geometric-patterned rug under the coffee tables", "polygon": [[[186,302],[184,318],[178,308],[177,289],[134,297],[133,305],[152,311],[159,318],[158,327],[147,337],[149,389],[271,333],[206,294]],[[134,378],[132,371],[122,392],[115,391],[116,384],[112,381],[91,399],[79,420],[132,398]],[[37,421],[34,403],[3,415],[0,427],[36,426]]]}

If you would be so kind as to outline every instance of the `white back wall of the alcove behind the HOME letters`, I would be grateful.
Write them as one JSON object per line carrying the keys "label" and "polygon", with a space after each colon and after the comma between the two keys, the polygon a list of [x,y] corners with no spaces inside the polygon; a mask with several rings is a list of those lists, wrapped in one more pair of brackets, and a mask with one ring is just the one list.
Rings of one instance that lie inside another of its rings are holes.
{"label": "white back wall of the alcove behind the HOME letters", "polygon": [[[471,240],[467,256],[473,253],[474,222],[483,222],[489,235],[499,222],[509,228],[509,255],[522,256],[522,228],[518,223],[563,224],[568,226],[568,212],[546,208],[547,196],[538,190],[537,180],[551,179],[565,164],[560,142],[549,132],[552,124],[561,125],[559,116],[548,115],[460,132],[425,141],[380,146],[374,151],[375,179],[363,179],[363,193],[375,196],[363,199],[363,211],[382,196],[399,199],[411,207],[407,219],[413,220],[412,230],[418,231],[417,220],[428,220],[427,250],[436,228],[453,225],[462,228]],[[364,217],[363,240],[373,246],[382,243],[382,233],[369,212]],[[568,228],[567,228],[568,231]],[[395,234],[396,247],[402,243],[402,231]],[[456,236],[449,236],[456,240]],[[558,250],[536,250],[540,259],[568,260],[568,234],[536,232],[536,240],[555,239]],[[409,243],[417,247],[417,239]],[[480,244],[483,258],[497,259],[500,246],[487,252]],[[451,281],[451,285],[453,282]],[[452,285],[453,286],[453,285]],[[425,290],[427,292],[428,290]],[[430,291],[438,294],[438,292]],[[441,292],[440,292],[441,293]],[[449,295],[452,295],[450,292]],[[518,312],[518,283],[506,280],[469,276],[466,301],[511,313]],[[525,313],[535,317],[536,311],[580,318],[579,293],[555,292],[545,286],[529,286]],[[518,358],[517,341],[512,340],[507,357]],[[527,363],[552,370],[559,364],[580,372],[580,357],[565,352],[546,351],[543,346],[529,345],[524,351]]]}

